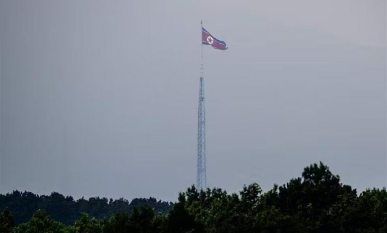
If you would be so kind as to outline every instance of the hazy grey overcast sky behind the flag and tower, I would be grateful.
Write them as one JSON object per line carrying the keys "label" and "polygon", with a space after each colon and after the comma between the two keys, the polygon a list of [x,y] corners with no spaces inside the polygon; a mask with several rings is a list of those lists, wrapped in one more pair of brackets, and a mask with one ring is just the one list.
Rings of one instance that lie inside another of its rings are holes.
{"label": "hazy grey overcast sky behind the flag and tower", "polygon": [[386,186],[386,0],[1,0],[0,193],[174,201],[323,161]]}

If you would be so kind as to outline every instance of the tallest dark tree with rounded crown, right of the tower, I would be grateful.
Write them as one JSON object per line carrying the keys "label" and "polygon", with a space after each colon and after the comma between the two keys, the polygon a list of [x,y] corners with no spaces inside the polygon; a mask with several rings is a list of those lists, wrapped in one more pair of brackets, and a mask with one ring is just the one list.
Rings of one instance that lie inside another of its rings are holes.
{"label": "tallest dark tree with rounded crown, right of the tower", "polygon": [[340,225],[332,221],[332,208],[343,197],[356,198],[356,190],[340,183],[340,177],[320,162],[279,187],[277,207],[299,219],[307,231],[339,232]]}

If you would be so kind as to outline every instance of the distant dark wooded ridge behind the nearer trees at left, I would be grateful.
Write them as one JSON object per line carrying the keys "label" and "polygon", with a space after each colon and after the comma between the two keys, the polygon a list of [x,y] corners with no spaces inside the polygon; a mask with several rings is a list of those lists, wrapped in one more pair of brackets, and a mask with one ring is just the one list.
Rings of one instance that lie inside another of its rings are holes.
{"label": "distant dark wooded ridge behind the nearer trees at left", "polygon": [[171,202],[157,201],[153,197],[135,198],[131,202],[124,198],[108,200],[100,197],[91,197],[88,200],[81,198],[75,201],[71,196],[65,197],[57,192],[49,196],[39,196],[27,191],[0,194],[0,211],[8,208],[16,224],[26,222],[38,209],[45,210],[54,220],[70,225],[82,212],[96,219],[103,219],[115,213],[130,214],[135,206],[142,205],[154,208],[156,213],[167,213],[172,208]]}

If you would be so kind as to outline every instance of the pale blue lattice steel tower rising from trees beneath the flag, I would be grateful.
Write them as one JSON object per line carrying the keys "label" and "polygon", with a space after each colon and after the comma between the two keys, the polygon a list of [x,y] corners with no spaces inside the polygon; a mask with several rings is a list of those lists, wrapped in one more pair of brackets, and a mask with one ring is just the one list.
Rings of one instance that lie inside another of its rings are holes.
{"label": "pale blue lattice steel tower rising from trees beneath the flag", "polygon": [[196,188],[198,190],[207,188],[205,175],[205,108],[204,108],[204,79],[203,79],[203,56],[201,53],[199,105],[197,111],[197,174]]}

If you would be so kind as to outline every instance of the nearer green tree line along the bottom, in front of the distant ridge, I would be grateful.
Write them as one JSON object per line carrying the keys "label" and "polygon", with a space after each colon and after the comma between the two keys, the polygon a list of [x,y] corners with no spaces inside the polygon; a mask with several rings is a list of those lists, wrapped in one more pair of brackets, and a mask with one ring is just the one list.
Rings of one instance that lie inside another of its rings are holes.
{"label": "nearer green tree line along the bottom, in front of the distant ridge", "polygon": [[238,194],[220,188],[198,191],[192,186],[165,213],[148,204],[102,218],[86,211],[65,225],[39,209],[16,226],[12,214],[11,208],[0,214],[0,232],[387,233],[387,191],[373,188],[358,194],[320,163],[267,192],[257,183],[244,186]]}

